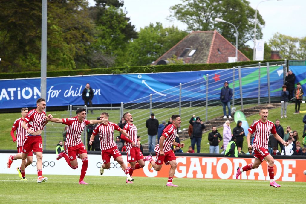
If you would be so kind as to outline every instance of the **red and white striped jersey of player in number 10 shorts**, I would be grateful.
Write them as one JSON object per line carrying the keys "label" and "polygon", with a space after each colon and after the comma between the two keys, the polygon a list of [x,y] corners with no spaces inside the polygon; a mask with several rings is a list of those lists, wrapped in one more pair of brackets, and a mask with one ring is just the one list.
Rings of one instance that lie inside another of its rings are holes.
{"label": "red and white striped jersey of player in number 10 shorts", "polygon": [[[29,123],[29,128],[34,130],[43,130],[46,125],[46,113],[45,111],[39,113],[36,109],[28,112],[28,115],[23,119],[24,122]],[[27,132],[26,135],[29,135]]]}

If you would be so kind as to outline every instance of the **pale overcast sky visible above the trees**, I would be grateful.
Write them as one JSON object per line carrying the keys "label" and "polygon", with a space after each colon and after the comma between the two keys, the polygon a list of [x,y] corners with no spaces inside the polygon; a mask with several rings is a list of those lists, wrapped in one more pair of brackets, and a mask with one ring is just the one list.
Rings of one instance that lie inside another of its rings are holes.
{"label": "pale overcast sky visible above the trees", "polygon": [[[94,0],[88,0],[91,6],[95,5]],[[168,21],[170,6],[180,3],[181,0],[124,0],[123,9],[135,25],[136,30],[149,25],[150,23],[161,22],[165,27],[175,25],[181,30],[187,26],[179,21]],[[249,0],[252,8],[262,0]],[[262,2],[258,11],[262,15],[266,25],[263,28],[263,40],[266,42],[279,32],[293,37],[306,36],[306,0],[270,0]],[[248,45],[253,46],[252,41]]]}

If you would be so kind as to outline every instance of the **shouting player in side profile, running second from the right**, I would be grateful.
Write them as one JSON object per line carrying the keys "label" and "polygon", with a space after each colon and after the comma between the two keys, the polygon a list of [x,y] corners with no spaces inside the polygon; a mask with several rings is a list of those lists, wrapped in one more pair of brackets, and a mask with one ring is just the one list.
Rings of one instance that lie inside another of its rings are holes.
{"label": "shouting player in side profile, running second from the right", "polygon": [[166,186],[177,187],[177,185],[174,185],[172,183],[177,163],[176,163],[176,157],[171,149],[171,146],[175,145],[178,147],[184,147],[185,144],[184,143],[180,144],[174,141],[177,134],[177,128],[181,127],[181,116],[172,115],[171,119],[172,119],[172,124],[165,127],[165,129],[162,132],[162,136],[159,139],[159,144],[155,146],[154,149],[156,153],[155,161],[153,160],[151,154],[147,157],[144,157],[144,161],[150,161],[155,171],[161,170],[163,162],[165,162],[166,165],[170,164],[171,168],[169,171],[169,178]]}

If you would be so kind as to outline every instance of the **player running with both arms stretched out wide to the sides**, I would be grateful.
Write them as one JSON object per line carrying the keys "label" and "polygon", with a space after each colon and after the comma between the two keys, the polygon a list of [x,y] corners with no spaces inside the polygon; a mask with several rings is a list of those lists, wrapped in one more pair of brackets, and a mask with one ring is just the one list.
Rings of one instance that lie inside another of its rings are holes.
{"label": "player running with both arms stretched out wide to the sides", "polygon": [[67,138],[65,142],[65,150],[58,154],[56,160],[64,157],[67,164],[73,168],[78,168],[78,163],[76,157],[79,157],[83,161],[81,175],[79,184],[88,184],[84,182],[84,177],[88,167],[88,158],[87,158],[87,150],[81,140],[81,134],[84,130],[84,127],[87,125],[93,125],[96,123],[102,123],[105,121],[103,120],[87,120],[86,119],[86,109],[85,108],[78,108],[76,110],[76,116],[73,118],[49,118],[48,121],[53,123],[63,123],[68,126],[67,128]]}

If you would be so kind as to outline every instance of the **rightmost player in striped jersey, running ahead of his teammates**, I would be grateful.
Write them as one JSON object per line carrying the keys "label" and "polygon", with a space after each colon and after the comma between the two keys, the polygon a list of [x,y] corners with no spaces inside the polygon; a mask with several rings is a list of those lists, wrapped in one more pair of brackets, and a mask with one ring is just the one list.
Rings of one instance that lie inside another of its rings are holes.
{"label": "rightmost player in striped jersey, running ahead of his teammates", "polygon": [[[276,132],[274,123],[268,120],[268,109],[260,108],[259,109],[260,119],[254,122],[248,129],[247,141],[248,149],[254,150],[255,161],[251,164],[248,164],[242,168],[237,168],[236,179],[241,175],[242,172],[246,172],[253,168],[258,168],[263,160],[268,162],[268,172],[270,177],[270,186],[272,187],[281,187],[274,181],[274,158],[268,152],[268,142],[270,132],[272,132],[274,138],[281,142],[283,145],[288,146],[289,143],[285,142]],[[251,134],[254,133],[255,139],[253,146],[250,145]]]}

